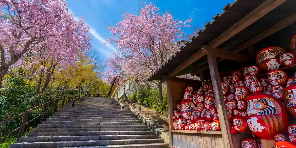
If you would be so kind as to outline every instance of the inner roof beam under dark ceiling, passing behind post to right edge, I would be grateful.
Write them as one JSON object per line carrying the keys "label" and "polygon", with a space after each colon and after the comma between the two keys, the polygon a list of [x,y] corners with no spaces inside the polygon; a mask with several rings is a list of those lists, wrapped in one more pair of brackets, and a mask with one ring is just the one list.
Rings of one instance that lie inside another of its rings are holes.
{"label": "inner roof beam under dark ceiling, passing behind post to right edge", "polygon": [[[283,28],[293,24],[294,22],[296,22],[296,13],[290,15],[289,17],[281,20],[280,22],[276,23],[275,25],[271,26],[270,28],[262,31],[261,33],[257,34],[256,36],[253,36],[252,38],[250,38],[249,40],[243,42],[242,44],[234,47],[232,50],[233,52],[240,52],[243,49],[246,49],[248,46],[257,43],[258,41],[261,41],[262,39],[276,33],[279,30],[282,30]],[[249,47],[250,48],[250,47]],[[250,50],[250,49],[248,49]],[[223,61],[224,59],[219,59],[217,60],[217,63]],[[201,66],[200,68],[194,70],[191,72],[191,75],[196,75],[197,73],[199,73],[200,71],[206,70],[209,68],[208,64],[205,64],[203,66]]]}

